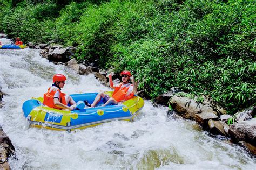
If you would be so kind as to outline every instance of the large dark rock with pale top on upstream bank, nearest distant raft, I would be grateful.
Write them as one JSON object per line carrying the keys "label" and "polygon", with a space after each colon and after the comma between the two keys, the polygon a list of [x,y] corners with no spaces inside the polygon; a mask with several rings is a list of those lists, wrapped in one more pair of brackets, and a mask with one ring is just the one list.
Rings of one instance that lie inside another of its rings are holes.
{"label": "large dark rock with pale top on upstream bank, nearest distant raft", "polygon": [[75,49],[75,47],[55,48],[53,52],[48,54],[48,59],[56,62],[68,62],[74,55]]}

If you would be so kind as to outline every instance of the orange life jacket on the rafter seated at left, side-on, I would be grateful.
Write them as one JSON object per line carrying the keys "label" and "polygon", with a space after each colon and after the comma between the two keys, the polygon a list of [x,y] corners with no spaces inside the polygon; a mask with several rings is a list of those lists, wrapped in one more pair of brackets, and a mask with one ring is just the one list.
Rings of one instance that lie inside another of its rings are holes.
{"label": "orange life jacket on the rafter seated at left, side-on", "polygon": [[65,93],[62,93],[58,88],[53,88],[51,91],[50,91],[51,87],[49,87],[47,93],[44,94],[44,105],[47,105],[48,107],[50,108],[55,108],[55,109],[62,109],[62,108],[59,108],[59,107],[56,107],[54,105],[54,101],[53,101],[53,96],[55,95],[55,93],[57,91],[59,91],[59,94],[60,94],[60,103],[62,104],[65,104],[66,105],[66,99],[65,99]]}

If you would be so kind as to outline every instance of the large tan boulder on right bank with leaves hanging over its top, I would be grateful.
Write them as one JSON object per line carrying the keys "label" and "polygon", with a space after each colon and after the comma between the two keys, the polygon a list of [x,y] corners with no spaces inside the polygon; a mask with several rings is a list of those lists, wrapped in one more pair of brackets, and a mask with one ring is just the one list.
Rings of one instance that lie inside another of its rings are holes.
{"label": "large tan boulder on right bank with leaves hanging over its top", "polygon": [[226,110],[219,107],[219,105],[214,104],[206,97],[204,97],[203,103],[198,103],[196,101],[198,97],[191,99],[185,97],[185,95],[186,93],[177,93],[170,100],[171,107],[183,118],[193,119],[195,114],[203,112],[212,112],[218,116],[226,114]]}

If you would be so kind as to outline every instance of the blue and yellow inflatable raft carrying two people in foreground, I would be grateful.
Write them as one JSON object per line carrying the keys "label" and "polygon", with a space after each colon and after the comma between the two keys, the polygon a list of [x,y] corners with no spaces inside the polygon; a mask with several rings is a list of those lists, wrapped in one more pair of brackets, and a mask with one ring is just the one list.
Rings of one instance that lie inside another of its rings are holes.
{"label": "blue and yellow inflatable raft carrying two people in foreground", "polygon": [[[112,95],[112,91],[106,92]],[[88,100],[92,103],[98,93],[84,93],[70,95],[76,102]],[[137,95],[130,100],[117,105],[102,107],[101,100],[95,108],[81,110],[58,110],[44,106],[43,97],[32,98],[23,103],[23,114],[30,126],[53,130],[72,131],[99,125],[104,122],[125,120],[132,121],[144,106],[144,101]]]}

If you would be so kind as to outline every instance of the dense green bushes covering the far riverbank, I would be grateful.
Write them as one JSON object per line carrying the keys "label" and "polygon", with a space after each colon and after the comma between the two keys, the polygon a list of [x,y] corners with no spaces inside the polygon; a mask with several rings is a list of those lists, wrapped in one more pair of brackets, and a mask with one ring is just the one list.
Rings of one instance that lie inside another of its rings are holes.
{"label": "dense green bushes covering the far riverbank", "polygon": [[255,105],[254,1],[10,2],[0,6],[0,31],[73,45],[79,61],[132,70],[151,97],[179,87],[233,113]]}

